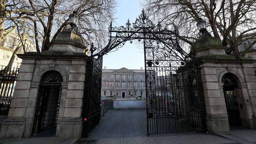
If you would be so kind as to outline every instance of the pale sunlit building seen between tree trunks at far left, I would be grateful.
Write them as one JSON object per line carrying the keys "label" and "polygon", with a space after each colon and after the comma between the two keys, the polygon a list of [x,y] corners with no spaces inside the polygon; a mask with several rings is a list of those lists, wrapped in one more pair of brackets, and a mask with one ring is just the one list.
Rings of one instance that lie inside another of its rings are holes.
{"label": "pale sunlit building seen between tree trunks at far left", "polygon": [[[7,66],[11,57],[12,53],[20,43],[20,38],[17,34],[12,34],[8,36],[4,41],[0,43],[0,66]],[[24,42],[26,52],[33,52],[36,50],[36,46],[33,42],[26,40]],[[17,54],[24,53],[23,48],[21,47]],[[20,67],[21,59],[17,56],[14,59],[12,67]]]}

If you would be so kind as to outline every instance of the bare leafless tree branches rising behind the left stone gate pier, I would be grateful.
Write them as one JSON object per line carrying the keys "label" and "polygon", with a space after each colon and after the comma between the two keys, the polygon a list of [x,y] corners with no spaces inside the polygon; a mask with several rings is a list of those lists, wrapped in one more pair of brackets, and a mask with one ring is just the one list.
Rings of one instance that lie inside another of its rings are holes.
{"label": "bare leafless tree branches rising behind the left stone gate pier", "polygon": [[102,48],[107,41],[109,21],[115,19],[115,7],[115,0],[4,0],[0,7],[0,35],[26,28],[26,36],[41,53],[48,50],[54,34],[68,26],[68,16],[76,11],[87,45],[93,42]]}

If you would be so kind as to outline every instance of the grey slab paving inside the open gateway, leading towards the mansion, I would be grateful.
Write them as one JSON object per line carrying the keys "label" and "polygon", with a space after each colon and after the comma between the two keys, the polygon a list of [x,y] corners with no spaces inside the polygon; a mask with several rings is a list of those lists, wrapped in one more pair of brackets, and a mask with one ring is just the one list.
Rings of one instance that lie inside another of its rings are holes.
{"label": "grey slab paving inside the open gateway, leading towards the mansion", "polygon": [[110,109],[90,133],[89,138],[123,138],[146,134],[146,109]]}

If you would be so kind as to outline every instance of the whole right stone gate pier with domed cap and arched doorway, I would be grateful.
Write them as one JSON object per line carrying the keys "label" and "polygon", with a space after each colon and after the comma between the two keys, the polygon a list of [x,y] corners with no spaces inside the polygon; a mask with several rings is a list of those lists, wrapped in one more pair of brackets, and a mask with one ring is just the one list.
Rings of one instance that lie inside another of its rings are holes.
{"label": "whole right stone gate pier with domed cap and arched doorway", "polygon": [[203,36],[191,46],[195,50],[206,109],[208,132],[229,131],[229,124],[256,128],[255,60],[225,53],[226,47],[212,36]]}

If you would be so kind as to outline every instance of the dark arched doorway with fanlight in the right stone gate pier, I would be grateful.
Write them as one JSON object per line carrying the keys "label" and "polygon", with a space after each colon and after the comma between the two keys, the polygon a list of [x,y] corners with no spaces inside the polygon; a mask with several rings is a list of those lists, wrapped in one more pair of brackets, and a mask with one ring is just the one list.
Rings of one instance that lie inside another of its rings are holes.
{"label": "dark arched doorway with fanlight in the right stone gate pier", "polygon": [[242,125],[239,106],[236,98],[237,81],[236,76],[232,73],[226,73],[222,76],[223,92],[228,113],[228,121],[230,124]]}

